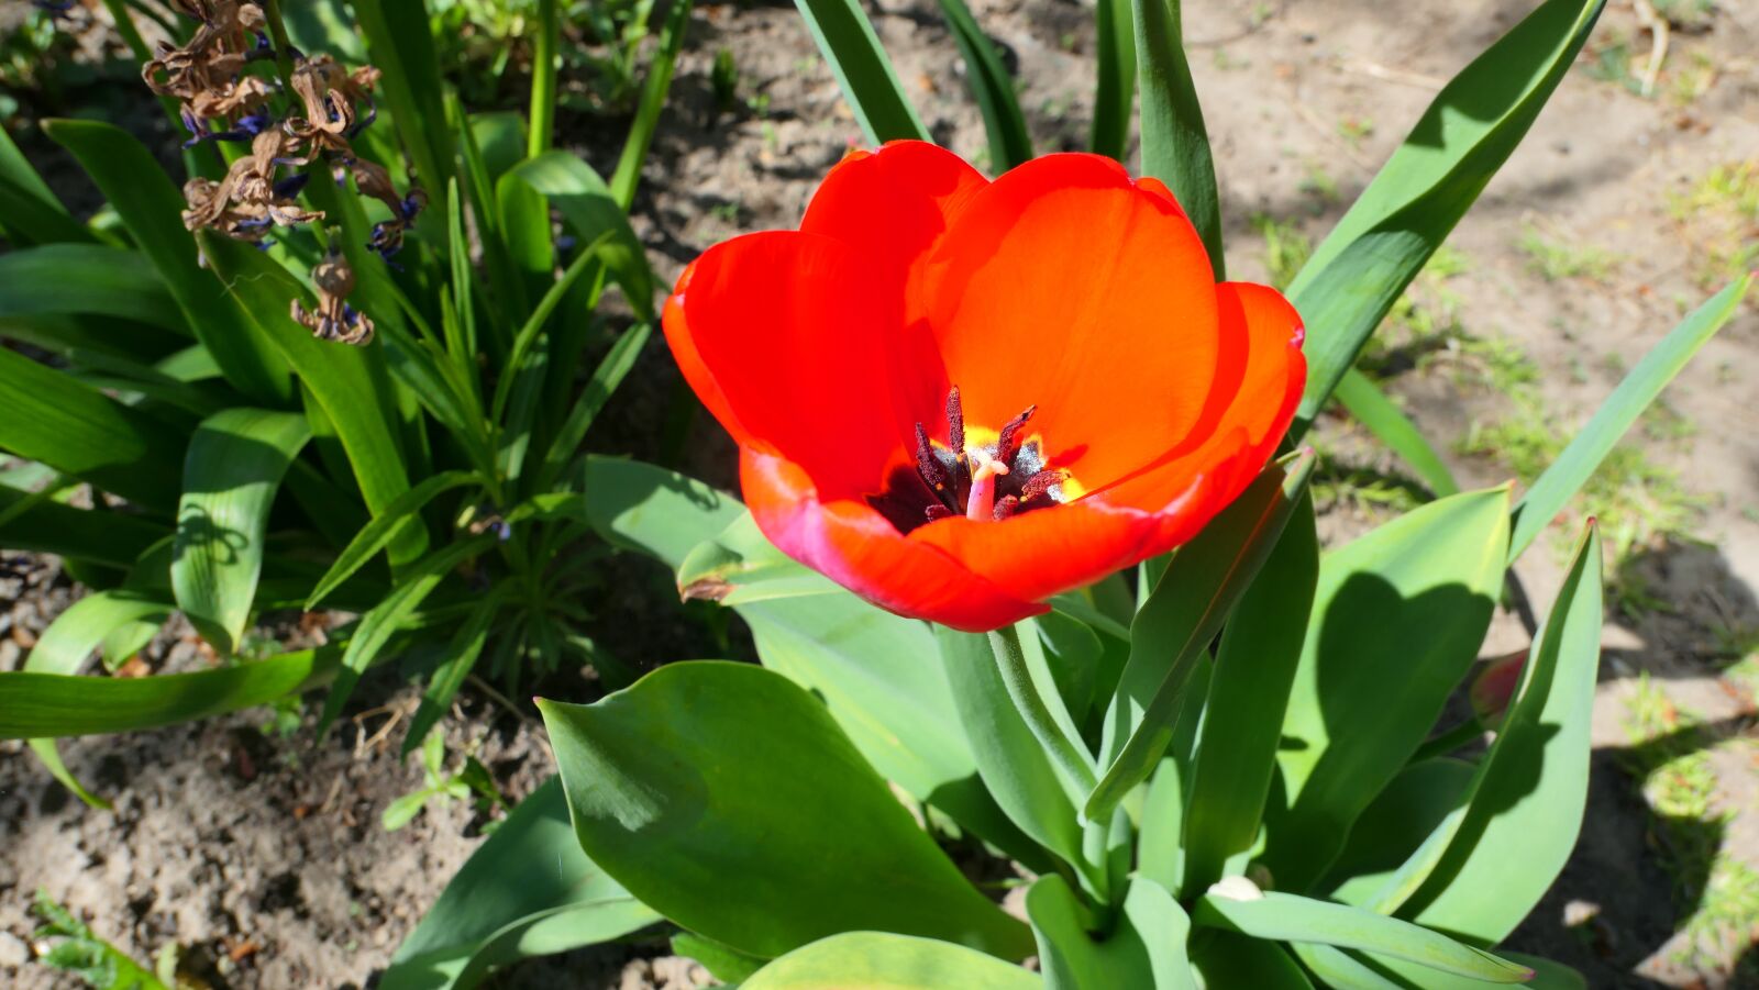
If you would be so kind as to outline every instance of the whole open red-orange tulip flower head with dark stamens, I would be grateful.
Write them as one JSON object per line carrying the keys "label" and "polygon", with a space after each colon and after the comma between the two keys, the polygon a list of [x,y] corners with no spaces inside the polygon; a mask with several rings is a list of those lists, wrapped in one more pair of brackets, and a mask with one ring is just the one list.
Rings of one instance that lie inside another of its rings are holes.
{"label": "whole open red-orange tulip flower head with dark stamens", "polygon": [[1289,302],[1217,285],[1159,181],[1098,155],[985,181],[915,141],[844,158],[800,230],[709,248],[665,334],[770,542],[967,631],[1189,540],[1307,376]]}

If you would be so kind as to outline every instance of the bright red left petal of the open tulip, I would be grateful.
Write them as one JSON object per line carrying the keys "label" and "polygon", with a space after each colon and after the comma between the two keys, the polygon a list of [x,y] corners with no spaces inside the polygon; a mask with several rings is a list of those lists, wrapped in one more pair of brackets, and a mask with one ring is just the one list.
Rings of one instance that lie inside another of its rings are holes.
{"label": "bright red left petal of the open tulip", "polygon": [[828,498],[871,492],[901,450],[887,375],[897,301],[869,273],[841,241],[748,234],[709,248],[665,304],[667,343],[709,411]]}

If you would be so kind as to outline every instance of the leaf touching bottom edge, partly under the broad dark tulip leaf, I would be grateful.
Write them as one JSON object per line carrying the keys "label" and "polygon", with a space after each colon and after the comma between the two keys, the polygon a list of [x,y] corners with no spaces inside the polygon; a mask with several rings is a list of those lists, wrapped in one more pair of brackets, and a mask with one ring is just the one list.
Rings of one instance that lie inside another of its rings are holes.
{"label": "leaf touching bottom edge, partly under the broad dark tulip leaf", "polygon": [[[544,869],[529,869],[535,863]],[[491,965],[621,937],[658,920],[586,858],[561,781],[551,777],[459,867],[398,946],[380,986],[471,986]]]}

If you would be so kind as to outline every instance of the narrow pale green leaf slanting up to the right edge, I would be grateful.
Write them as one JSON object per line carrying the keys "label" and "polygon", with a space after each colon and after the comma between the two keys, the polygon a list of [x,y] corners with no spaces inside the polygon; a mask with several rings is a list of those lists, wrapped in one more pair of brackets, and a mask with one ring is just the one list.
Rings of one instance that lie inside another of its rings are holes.
{"label": "narrow pale green leaf slanting up to the right edge", "polygon": [[1581,427],[1581,433],[1569,441],[1557,462],[1539,475],[1532,489],[1514,505],[1514,536],[1509,540],[1509,561],[1522,556],[1564,503],[1576,494],[1601,461],[1611,454],[1618,438],[1631,429],[1643,410],[1655,401],[1655,396],[1673,382],[1673,376],[1685,368],[1685,362],[1697,353],[1697,348],[1715,336],[1715,332],[1733,317],[1754,276],[1743,276],[1727,288],[1715,294],[1708,302],[1692,309],[1673,331],[1625,375],[1625,380],[1613,389],[1613,394],[1601,403],[1599,411]]}

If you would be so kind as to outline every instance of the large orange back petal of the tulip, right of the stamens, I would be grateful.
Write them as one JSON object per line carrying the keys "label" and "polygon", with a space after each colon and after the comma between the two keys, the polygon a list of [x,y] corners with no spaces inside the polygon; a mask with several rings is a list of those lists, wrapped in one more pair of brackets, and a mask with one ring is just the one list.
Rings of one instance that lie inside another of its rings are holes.
{"label": "large orange back petal of the tulip, right of the stamens", "polygon": [[978,190],[923,292],[967,422],[1036,404],[1055,468],[1106,485],[1200,420],[1221,362],[1203,243],[1159,183],[1098,155],[1036,158]]}

